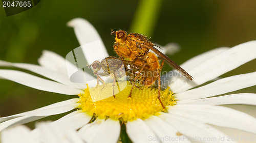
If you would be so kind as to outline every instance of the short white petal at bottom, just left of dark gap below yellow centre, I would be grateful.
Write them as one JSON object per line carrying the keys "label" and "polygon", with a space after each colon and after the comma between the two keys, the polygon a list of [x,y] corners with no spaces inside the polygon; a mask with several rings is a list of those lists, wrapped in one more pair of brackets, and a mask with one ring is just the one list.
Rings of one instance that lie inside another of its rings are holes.
{"label": "short white petal at bottom, just left of dark gap below yellow centre", "polygon": [[117,142],[120,135],[120,123],[115,120],[95,120],[82,127],[78,133],[88,143]]}

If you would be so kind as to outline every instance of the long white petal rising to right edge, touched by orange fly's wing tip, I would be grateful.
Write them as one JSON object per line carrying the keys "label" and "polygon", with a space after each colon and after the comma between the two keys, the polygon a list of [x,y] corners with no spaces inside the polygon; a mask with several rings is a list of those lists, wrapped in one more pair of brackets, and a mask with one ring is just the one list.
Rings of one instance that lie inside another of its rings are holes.
{"label": "long white petal rising to right edge, touched by orange fly's wing tip", "polygon": [[[186,91],[255,59],[255,53],[256,41],[234,46],[188,71],[194,77],[193,81],[188,81],[185,77],[180,77],[170,84],[170,88],[174,93]],[[180,84],[184,80],[187,84]]]}

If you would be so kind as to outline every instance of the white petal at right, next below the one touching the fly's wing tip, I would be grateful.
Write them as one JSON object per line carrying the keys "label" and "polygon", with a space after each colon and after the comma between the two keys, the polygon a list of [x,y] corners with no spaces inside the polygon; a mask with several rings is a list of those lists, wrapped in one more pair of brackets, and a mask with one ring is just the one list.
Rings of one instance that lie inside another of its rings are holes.
{"label": "white petal at right, next below the one touching the fly's wing tip", "polygon": [[221,95],[256,85],[256,72],[234,75],[211,82],[203,87],[175,94],[176,99],[199,99]]}

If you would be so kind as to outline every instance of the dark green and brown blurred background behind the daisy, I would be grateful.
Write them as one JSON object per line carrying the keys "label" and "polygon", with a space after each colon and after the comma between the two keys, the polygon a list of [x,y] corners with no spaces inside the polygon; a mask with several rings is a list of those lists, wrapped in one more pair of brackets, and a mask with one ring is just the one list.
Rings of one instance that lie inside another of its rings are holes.
{"label": "dark green and brown blurred background behind the daisy", "polygon": [[[37,59],[44,49],[66,56],[69,51],[79,46],[73,28],[66,26],[68,21],[76,17],[90,21],[99,32],[110,55],[116,55],[110,29],[132,32],[131,26],[138,6],[139,1],[45,0],[30,10],[10,17],[6,17],[2,7],[0,60],[38,64]],[[169,42],[180,45],[180,52],[171,56],[178,64],[216,47],[232,47],[256,39],[255,0],[166,0],[159,1],[153,7],[146,4],[144,6],[146,9],[138,11],[140,16],[156,16],[156,19],[148,21],[151,26],[148,35],[152,40],[160,45]],[[136,17],[135,23],[140,16]],[[137,29],[136,32],[140,30]],[[222,77],[256,71],[255,65],[256,61],[251,61]],[[164,70],[169,69],[165,66]],[[256,89],[254,86],[239,92],[256,93]],[[39,91],[1,79],[0,116],[13,115],[75,97]],[[244,106],[234,108],[242,107]],[[63,115],[44,120],[56,120],[61,116]],[[33,123],[28,125],[33,127]]]}

